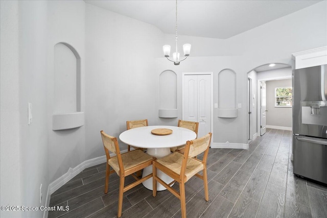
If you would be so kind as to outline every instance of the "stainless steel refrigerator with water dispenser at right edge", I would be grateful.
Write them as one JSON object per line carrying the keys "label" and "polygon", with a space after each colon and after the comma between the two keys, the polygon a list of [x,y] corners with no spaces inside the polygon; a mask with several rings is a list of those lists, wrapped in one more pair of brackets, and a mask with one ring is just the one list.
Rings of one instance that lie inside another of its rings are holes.
{"label": "stainless steel refrigerator with water dispenser at right edge", "polygon": [[327,184],[327,65],[293,70],[294,174]]}

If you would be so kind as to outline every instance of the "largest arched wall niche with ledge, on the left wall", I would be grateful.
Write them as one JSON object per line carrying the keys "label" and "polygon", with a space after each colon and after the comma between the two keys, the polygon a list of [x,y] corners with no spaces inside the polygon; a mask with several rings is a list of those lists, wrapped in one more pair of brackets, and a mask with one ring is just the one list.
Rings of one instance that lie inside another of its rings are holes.
{"label": "largest arched wall niche with ledge, on the left wall", "polygon": [[54,45],[53,130],[84,125],[81,111],[81,58],[68,43]]}

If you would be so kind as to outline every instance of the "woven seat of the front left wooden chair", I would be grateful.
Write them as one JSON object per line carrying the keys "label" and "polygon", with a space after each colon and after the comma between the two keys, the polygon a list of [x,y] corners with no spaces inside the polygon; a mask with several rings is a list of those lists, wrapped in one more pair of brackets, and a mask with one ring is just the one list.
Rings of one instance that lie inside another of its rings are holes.
{"label": "woven seat of the front left wooden chair", "polygon": [[[153,157],[144,153],[140,149],[133,150],[124,154],[121,154],[123,165],[125,171],[128,171],[129,168],[132,168],[138,164],[151,160]],[[114,171],[118,174],[119,172],[119,164],[117,156],[111,157],[108,160],[108,164],[114,169]]]}

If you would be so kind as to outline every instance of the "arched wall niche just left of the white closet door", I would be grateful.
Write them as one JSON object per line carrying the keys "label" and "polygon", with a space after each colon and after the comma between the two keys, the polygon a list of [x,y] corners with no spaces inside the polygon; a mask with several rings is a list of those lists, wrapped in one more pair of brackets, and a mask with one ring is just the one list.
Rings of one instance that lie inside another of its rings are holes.
{"label": "arched wall niche just left of the white closet door", "polygon": [[177,117],[177,75],[172,70],[159,75],[159,117]]}

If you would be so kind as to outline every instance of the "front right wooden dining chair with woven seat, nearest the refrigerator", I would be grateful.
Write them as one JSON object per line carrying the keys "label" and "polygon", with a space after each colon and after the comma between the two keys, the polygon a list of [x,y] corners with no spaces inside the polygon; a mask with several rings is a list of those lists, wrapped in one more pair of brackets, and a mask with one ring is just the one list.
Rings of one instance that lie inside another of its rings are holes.
{"label": "front right wooden dining chair with woven seat, nearest the refrigerator", "polygon": [[[206,173],[206,160],[209,152],[212,133],[186,141],[184,154],[175,151],[174,153],[158,158],[153,161],[153,197],[156,196],[157,182],[165,186],[170,192],[173,193],[180,200],[182,217],[186,217],[186,203],[185,203],[185,183],[194,175],[203,180],[205,200],[209,200],[207,173]],[[204,152],[203,160],[195,158],[195,156]],[[167,184],[157,176],[157,169],[164,172],[174,179],[173,182]],[[203,171],[203,175],[198,174]],[[174,182],[179,183],[179,192],[173,187],[170,187]]]}

